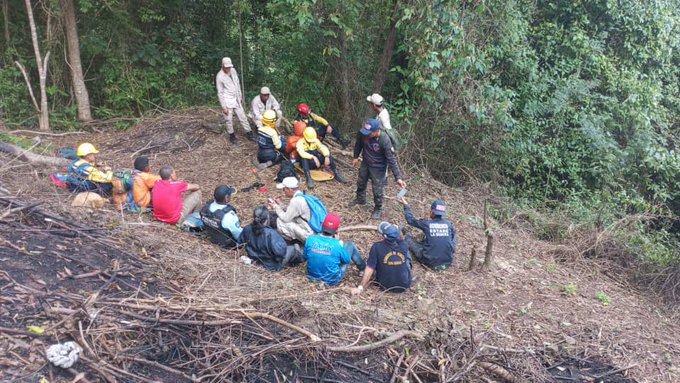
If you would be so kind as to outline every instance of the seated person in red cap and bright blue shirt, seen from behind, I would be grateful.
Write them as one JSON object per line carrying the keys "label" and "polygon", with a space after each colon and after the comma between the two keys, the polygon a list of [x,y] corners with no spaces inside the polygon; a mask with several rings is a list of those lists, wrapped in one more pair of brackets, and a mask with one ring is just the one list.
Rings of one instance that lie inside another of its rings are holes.
{"label": "seated person in red cap and bright blue shirt, seen from behind", "polygon": [[366,262],[352,242],[337,238],[340,217],[329,213],[323,221],[321,234],[307,238],[303,257],[307,260],[307,278],[335,286],[342,282],[350,262],[363,272]]}

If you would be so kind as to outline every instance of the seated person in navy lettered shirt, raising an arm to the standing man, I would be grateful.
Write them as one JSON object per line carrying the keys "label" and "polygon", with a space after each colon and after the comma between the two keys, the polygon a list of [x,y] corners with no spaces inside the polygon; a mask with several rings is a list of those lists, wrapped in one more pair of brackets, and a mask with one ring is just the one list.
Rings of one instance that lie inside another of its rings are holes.
{"label": "seated person in navy lettered shirt, raising an arm to the standing man", "polygon": [[416,219],[406,199],[402,197],[399,202],[404,205],[406,222],[425,234],[422,241],[416,241],[411,235],[406,236],[413,258],[431,269],[446,270],[456,255],[458,237],[453,224],[444,219],[446,215],[444,202],[440,200],[432,202],[430,219]]}

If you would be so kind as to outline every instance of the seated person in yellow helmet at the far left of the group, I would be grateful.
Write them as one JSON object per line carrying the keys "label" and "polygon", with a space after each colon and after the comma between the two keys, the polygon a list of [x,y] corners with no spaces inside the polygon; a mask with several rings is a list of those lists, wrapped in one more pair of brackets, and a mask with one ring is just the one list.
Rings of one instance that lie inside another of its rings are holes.
{"label": "seated person in yellow helmet at the far left of the group", "polygon": [[68,188],[72,192],[91,191],[101,196],[111,196],[113,192],[113,172],[109,166],[97,166],[99,150],[89,142],[78,145],[78,159],[68,167]]}

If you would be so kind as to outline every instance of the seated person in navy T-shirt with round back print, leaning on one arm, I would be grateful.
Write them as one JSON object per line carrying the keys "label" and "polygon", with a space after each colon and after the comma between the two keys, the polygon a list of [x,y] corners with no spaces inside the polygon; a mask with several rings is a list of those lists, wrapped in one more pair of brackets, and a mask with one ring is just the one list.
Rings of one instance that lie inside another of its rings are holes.
{"label": "seated person in navy T-shirt with round back print, leaning on one arm", "polygon": [[378,232],[383,240],[371,246],[364,278],[352,289],[352,295],[364,291],[374,272],[377,285],[385,291],[401,293],[411,287],[411,255],[401,231],[389,222],[381,222]]}

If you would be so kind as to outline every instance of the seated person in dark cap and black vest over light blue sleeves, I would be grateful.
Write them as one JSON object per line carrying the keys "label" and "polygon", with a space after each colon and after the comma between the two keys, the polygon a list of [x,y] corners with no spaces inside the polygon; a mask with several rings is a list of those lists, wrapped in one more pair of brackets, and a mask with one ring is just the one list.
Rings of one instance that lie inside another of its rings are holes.
{"label": "seated person in dark cap and black vest over light blue sleeves", "polygon": [[210,242],[226,249],[236,247],[243,231],[236,209],[229,204],[235,192],[236,189],[231,186],[220,185],[213,193],[215,199],[201,209],[201,220]]}

